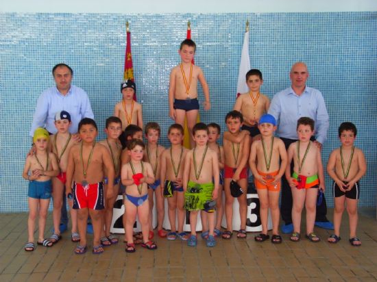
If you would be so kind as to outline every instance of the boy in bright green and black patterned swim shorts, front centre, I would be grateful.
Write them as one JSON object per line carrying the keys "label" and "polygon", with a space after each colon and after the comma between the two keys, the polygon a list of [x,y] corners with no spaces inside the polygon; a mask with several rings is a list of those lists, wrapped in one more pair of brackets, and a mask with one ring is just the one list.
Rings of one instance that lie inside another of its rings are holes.
{"label": "boy in bright green and black patterned swim shorts, front centre", "polygon": [[[193,127],[193,140],[196,145],[186,154],[183,172],[184,207],[190,211],[191,235],[187,241],[188,246],[197,244],[197,214],[217,198],[219,191],[219,158],[215,151],[208,148],[208,127],[204,123],[197,123]],[[215,213],[213,209],[211,211],[207,214],[207,246],[216,244]]]}

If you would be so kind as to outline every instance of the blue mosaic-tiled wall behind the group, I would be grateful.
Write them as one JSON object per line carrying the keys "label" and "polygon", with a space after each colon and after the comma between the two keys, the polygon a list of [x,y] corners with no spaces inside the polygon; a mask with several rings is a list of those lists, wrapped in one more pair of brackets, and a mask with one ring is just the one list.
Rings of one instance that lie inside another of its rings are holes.
{"label": "blue mosaic-tiled wall behind the group", "polygon": [[[263,93],[272,98],[289,86],[293,62],[308,64],[308,85],[323,92],[330,114],[325,160],[339,146],[339,124],[345,120],[356,124],[356,145],[368,162],[360,204],[376,206],[376,12],[6,13],[0,14],[0,211],[27,210],[27,181],[21,173],[31,142],[28,132],[39,94],[53,85],[54,64],[65,62],[73,68],[73,83],[88,92],[95,119],[104,128],[104,120],[121,99],[125,21],[130,21],[138,101],[143,103],[145,123],[155,120],[162,125],[161,143],[167,145],[169,71],[179,62],[187,21],[197,43],[195,63],[204,70],[212,100],[212,110],[201,112],[202,120],[225,129],[223,117],[234,103],[247,19],[250,60],[263,72]],[[332,206],[330,179],[326,181]]]}

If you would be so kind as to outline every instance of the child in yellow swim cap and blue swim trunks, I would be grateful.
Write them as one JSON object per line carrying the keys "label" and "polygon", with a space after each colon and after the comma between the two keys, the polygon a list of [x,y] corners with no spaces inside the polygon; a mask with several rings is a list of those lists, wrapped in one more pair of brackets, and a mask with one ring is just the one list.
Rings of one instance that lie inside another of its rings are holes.
{"label": "child in yellow swim cap and blue swim trunks", "polygon": [[56,156],[47,150],[49,133],[44,128],[34,131],[33,142],[36,153],[28,155],[23,168],[23,178],[29,180],[27,192],[29,201],[29,218],[27,220],[28,240],[25,251],[34,251],[34,227],[39,214],[38,241],[40,246],[50,247],[53,242],[45,239],[47,212],[50,204],[51,178],[58,176],[60,170]]}

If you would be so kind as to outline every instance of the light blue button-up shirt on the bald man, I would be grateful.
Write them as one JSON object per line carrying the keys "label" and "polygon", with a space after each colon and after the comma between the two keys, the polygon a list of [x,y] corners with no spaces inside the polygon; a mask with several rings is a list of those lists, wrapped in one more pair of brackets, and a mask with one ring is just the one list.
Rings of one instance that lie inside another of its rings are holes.
{"label": "light blue button-up shirt on the bald man", "polygon": [[297,120],[302,116],[315,121],[315,138],[324,144],[329,126],[326,104],[321,92],[306,86],[301,95],[287,88],[278,92],[269,106],[269,114],[276,118],[276,133],[282,138],[297,140]]}

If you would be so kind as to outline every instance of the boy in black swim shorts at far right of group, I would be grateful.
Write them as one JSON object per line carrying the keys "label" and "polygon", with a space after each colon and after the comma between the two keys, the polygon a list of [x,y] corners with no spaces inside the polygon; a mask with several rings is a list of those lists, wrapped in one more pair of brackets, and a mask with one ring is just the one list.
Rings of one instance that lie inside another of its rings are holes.
{"label": "boy in black swim shorts at far right of group", "polygon": [[354,146],[357,129],[353,123],[342,123],[339,127],[341,147],[332,151],[327,164],[328,175],[334,180],[334,228],[335,233],[328,242],[337,243],[340,238],[341,216],[346,205],[350,220],[350,244],[361,246],[361,240],[356,237],[357,203],[360,196],[358,181],[367,171],[367,163],[361,149]]}

